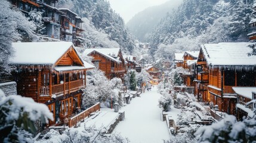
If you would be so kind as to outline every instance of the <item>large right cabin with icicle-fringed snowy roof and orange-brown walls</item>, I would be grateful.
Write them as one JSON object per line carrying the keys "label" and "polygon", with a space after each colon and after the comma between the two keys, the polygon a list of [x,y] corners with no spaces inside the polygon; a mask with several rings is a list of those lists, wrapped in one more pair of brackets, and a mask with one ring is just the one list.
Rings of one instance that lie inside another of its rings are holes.
{"label": "large right cabin with icicle-fringed snowy roof and orange-brown walls", "polygon": [[252,51],[249,44],[201,45],[195,87],[204,101],[218,105],[220,111],[228,114],[236,113],[237,94],[232,88],[256,86],[256,56],[248,56]]}

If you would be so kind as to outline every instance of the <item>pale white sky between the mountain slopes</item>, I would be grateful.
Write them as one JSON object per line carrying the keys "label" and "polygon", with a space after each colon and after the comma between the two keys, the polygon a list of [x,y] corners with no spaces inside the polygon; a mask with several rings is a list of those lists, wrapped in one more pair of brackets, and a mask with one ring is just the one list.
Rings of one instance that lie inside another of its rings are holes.
{"label": "pale white sky between the mountain slopes", "polygon": [[135,14],[154,5],[161,5],[169,0],[108,0],[113,10],[119,13],[127,23]]}

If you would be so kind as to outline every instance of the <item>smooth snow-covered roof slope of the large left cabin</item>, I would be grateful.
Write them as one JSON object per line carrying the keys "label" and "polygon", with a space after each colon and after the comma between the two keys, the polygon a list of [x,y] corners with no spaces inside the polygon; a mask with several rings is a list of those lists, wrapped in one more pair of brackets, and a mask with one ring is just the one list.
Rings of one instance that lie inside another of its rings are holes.
{"label": "smooth snow-covered roof slope of the large left cabin", "polygon": [[72,42],[15,42],[11,64],[54,64],[70,47]]}

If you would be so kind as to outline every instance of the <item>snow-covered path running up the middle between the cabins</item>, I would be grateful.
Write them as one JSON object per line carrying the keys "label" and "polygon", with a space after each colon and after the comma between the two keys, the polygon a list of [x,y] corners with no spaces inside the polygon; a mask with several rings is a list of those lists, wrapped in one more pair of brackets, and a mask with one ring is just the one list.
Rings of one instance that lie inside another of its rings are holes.
{"label": "snow-covered path running up the middle between the cabins", "polygon": [[114,132],[120,132],[131,143],[161,143],[163,139],[169,139],[166,122],[161,121],[162,110],[158,107],[160,96],[155,87],[132,99],[131,104],[122,108],[125,120]]}

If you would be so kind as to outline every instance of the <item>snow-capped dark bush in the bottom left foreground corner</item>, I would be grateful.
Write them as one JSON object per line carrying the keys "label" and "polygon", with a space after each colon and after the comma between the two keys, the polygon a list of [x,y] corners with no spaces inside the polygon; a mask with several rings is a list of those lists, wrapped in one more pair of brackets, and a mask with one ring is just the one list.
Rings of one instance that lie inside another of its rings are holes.
{"label": "snow-capped dark bush in the bottom left foreground corner", "polygon": [[27,135],[36,132],[34,122],[48,119],[53,120],[53,114],[47,105],[20,95],[5,97],[0,89],[0,142],[28,142]]}

